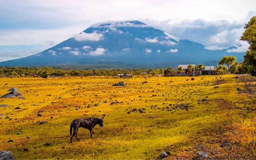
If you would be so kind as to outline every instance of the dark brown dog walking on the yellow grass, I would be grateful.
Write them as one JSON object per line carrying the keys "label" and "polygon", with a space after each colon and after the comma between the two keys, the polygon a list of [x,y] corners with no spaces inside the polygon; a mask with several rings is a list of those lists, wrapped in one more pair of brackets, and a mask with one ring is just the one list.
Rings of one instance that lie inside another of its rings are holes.
{"label": "dark brown dog walking on the yellow grass", "polygon": [[74,119],[73,122],[70,125],[70,135],[72,135],[72,129],[73,129],[73,135],[70,137],[70,143],[72,143],[72,139],[73,137],[76,137],[77,140],[80,140],[79,138],[77,138],[77,132],[78,132],[78,128],[82,127],[85,129],[89,129],[90,131],[90,136],[93,138],[93,128],[96,125],[99,125],[101,128],[103,127],[103,118],[105,116],[103,116],[102,118],[97,118],[97,117],[91,117],[91,118],[79,118],[79,119]]}

